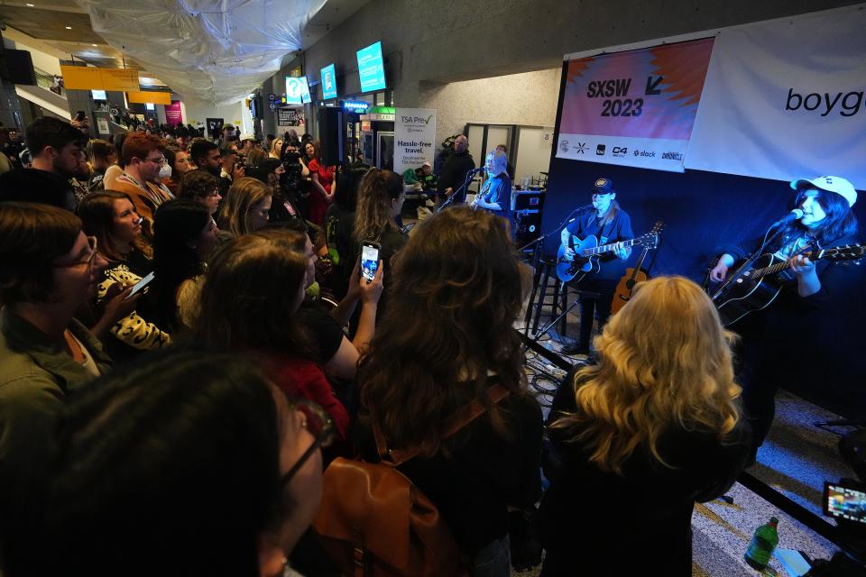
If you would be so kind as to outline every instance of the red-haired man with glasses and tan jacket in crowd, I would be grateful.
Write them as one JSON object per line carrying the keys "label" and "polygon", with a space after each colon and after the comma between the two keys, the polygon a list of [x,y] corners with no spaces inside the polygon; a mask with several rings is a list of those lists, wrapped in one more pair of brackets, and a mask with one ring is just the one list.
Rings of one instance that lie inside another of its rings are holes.
{"label": "red-haired man with glasses and tan jacket in crowd", "polygon": [[148,240],[153,238],[156,207],[172,198],[169,189],[160,183],[160,169],[167,166],[162,151],[162,141],[152,134],[132,133],[127,136],[121,151],[124,173],[112,186],[113,190],[132,198],[135,212],[143,218],[142,233]]}

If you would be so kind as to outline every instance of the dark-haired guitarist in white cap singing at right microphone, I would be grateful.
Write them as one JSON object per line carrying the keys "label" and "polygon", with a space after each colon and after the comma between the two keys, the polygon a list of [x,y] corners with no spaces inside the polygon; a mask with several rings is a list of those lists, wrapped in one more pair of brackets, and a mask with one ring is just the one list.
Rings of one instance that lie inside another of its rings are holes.
{"label": "dark-haired guitarist in white cap singing at right microphone", "polygon": [[[857,191],[839,177],[798,179],[791,188],[797,191],[797,209],[761,251],[771,254],[780,269],[761,280],[771,287],[769,304],[764,300],[757,304],[763,310],[747,314],[746,298],[724,294],[730,284],[714,297],[723,317],[726,310],[735,310],[729,318],[731,328],[742,335],[742,398],[752,421],[755,450],[769,431],[778,389],[784,386],[801,395],[817,387],[843,389],[852,359],[840,354],[840,346],[846,338],[860,340],[846,329],[856,330],[852,319],[856,325],[860,306],[855,270],[830,258],[815,261],[825,252],[834,253],[834,247],[857,243],[857,218],[851,209]],[[760,244],[759,239],[755,246]],[[749,254],[742,246],[725,246],[710,279],[729,279],[734,262]]]}

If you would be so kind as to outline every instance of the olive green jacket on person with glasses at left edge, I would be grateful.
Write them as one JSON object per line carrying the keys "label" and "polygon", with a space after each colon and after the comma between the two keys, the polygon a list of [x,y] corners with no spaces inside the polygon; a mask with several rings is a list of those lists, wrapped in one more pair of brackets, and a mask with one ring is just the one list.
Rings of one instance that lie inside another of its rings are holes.
{"label": "olive green jacket on person with glasses at left edge", "polygon": [[[75,319],[69,332],[84,343],[100,373],[110,370],[97,337]],[[66,396],[93,379],[39,329],[9,307],[0,309],[0,480],[24,481],[23,468],[45,450]]]}

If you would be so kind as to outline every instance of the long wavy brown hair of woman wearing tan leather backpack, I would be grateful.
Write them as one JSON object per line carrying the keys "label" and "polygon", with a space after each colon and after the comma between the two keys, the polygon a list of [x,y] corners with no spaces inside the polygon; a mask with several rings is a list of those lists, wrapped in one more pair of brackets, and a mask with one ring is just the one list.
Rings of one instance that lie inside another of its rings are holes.
{"label": "long wavy brown hair of woman wearing tan leather backpack", "polygon": [[486,396],[488,371],[521,394],[524,275],[507,222],[467,207],[419,225],[397,255],[389,301],[358,367],[361,400],[391,448],[437,453],[474,398],[508,435]]}

